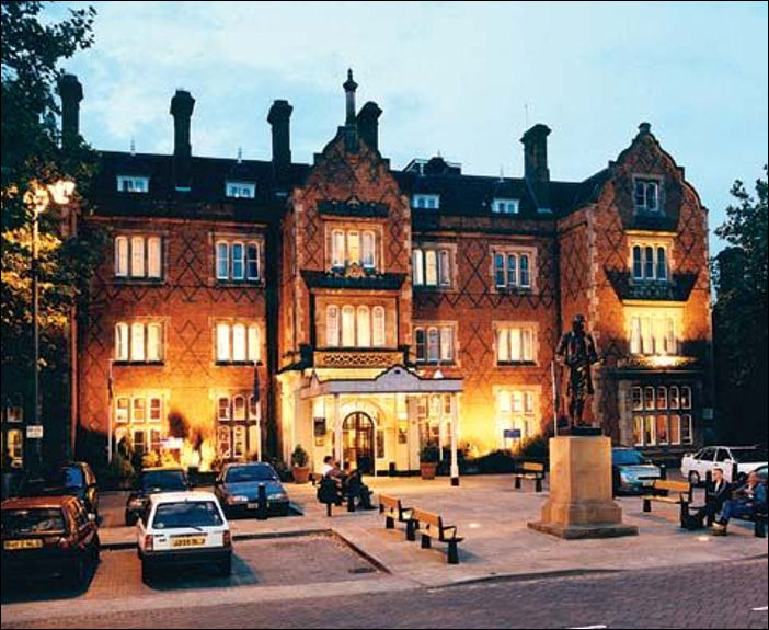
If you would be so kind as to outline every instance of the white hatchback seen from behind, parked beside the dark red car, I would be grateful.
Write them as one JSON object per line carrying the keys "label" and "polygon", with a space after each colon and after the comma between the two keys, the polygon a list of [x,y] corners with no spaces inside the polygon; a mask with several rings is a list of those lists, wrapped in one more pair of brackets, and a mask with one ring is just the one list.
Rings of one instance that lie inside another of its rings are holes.
{"label": "white hatchback seen from behind, parked beside the dark red car", "polygon": [[213,563],[222,576],[232,572],[230,526],[210,492],[152,494],[136,532],[144,581],[162,565]]}

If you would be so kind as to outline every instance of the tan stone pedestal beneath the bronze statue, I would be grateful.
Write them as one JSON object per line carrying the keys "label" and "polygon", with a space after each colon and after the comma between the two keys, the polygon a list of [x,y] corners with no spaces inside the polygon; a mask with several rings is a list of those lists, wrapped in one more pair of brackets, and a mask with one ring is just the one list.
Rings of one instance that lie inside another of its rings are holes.
{"label": "tan stone pedestal beneath the bronze statue", "polygon": [[605,436],[562,436],[550,439],[550,499],[542,519],[529,523],[537,531],[560,538],[634,536],[622,524],[622,509],[611,495],[611,440]]}

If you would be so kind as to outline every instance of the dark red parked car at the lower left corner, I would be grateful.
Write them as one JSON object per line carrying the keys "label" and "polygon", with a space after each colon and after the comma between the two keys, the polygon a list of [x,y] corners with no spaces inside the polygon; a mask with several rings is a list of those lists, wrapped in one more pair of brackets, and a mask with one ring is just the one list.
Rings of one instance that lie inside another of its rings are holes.
{"label": "dark red parked car at the lower left corner", "polygon": [[27,496],[3,501],[2,580],[58,574],[83,586],[99,563],[99,529],[76,496]]}

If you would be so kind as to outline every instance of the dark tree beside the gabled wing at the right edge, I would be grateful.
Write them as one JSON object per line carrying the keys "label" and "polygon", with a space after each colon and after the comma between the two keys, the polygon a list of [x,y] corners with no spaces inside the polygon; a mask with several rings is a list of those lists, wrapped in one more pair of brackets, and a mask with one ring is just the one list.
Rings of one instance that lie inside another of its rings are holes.
{"label": "dark tree beside the gabled wing at the right edge", "polygon": [[716,259],[713,347],[720,434],[767,440],[767,167],[755,196],[741,181],[715,233],[730,243]]}

